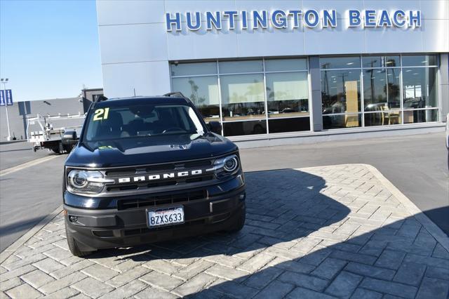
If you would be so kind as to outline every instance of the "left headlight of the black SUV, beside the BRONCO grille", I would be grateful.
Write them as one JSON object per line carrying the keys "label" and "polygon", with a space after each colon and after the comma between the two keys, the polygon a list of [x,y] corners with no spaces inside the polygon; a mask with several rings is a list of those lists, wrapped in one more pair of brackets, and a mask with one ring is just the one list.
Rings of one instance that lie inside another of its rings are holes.
{"label": "left headlight of the black SUV, beside the BRONCO grille", "polygon": [[97,194],[102,192],[107,180],[100,171],[72,170],[67,175],[67,189],[70,192]]}

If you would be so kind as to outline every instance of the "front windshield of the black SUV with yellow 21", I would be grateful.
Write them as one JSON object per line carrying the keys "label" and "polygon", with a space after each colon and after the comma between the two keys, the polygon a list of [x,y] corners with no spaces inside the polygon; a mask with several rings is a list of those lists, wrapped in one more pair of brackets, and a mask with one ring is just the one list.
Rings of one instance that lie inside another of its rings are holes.
{"label": "front windshield of the black SUV with yellow 21", "polygon": [[203,126],[188,105],[101,105],[89,114],[87,141],[166,134],[203,134]]}

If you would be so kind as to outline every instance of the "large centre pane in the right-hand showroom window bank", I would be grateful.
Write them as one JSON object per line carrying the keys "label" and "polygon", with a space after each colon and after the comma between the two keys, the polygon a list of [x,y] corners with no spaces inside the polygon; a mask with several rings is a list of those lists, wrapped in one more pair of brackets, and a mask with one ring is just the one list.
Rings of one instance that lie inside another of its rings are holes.
{"label": "large centre pane in the right-hand showroom window bank", "polygon": [[366,112],[401,109],[400,69],[364,69],[363,100]]}

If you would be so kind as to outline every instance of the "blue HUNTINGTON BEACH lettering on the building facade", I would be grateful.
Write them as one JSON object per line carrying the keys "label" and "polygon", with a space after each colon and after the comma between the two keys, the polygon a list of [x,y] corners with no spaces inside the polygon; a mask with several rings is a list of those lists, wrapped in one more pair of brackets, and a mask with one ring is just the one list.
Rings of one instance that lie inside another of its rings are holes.
{"label": "blue HUNTINGTON BEACH lettering on the building facade", "polygon": [[[342,18],[346,27],[421,27],[421,11],[348,10]],[[342,20],[340,20],[342,22]],[[236,28],[267,29],[337,27],[337,11],[275,10],[275,11],[206,11],[166,13],[168,32],[206,30],[234,30]]]}

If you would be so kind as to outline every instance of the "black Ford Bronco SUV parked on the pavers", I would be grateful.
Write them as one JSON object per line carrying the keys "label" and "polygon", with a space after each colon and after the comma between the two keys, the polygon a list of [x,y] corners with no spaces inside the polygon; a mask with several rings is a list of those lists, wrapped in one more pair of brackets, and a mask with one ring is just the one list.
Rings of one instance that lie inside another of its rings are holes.
{"label": "black Ford Bronco SUV parked on the pavers", "polygon": [[65,161],[70,251],[241,230],[239,149],[220,133],[181,93],[93,102]]}

